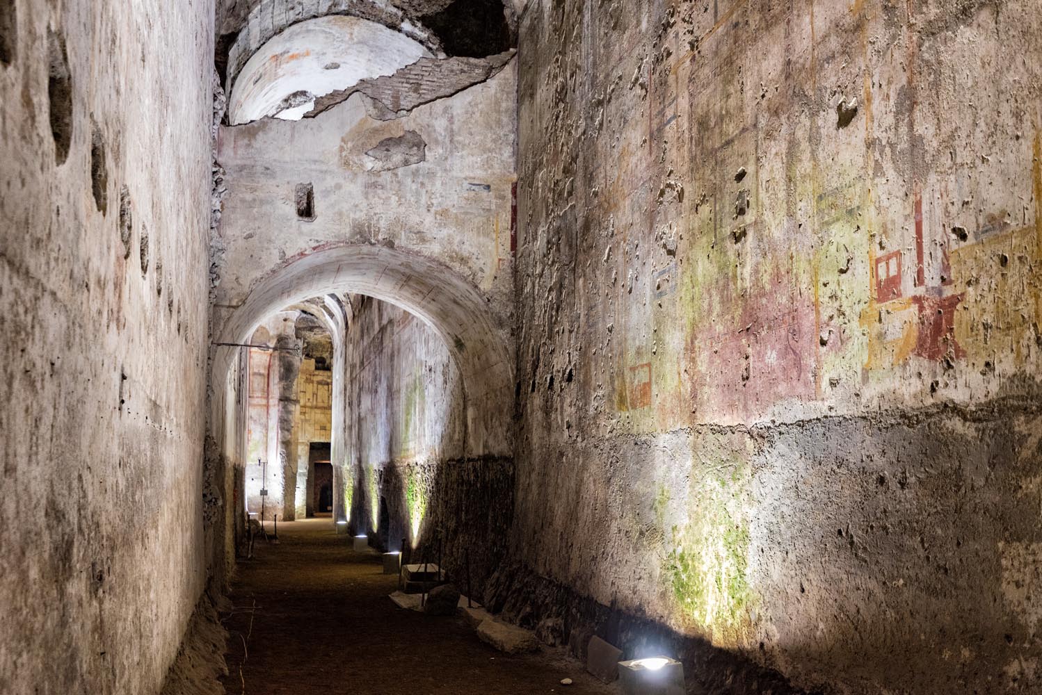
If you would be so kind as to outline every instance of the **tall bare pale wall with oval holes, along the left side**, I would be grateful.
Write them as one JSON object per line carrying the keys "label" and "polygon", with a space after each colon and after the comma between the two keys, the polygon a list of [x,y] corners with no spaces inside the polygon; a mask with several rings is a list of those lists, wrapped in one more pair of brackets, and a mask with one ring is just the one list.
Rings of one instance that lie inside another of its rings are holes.
{"label": "tall bare pale wall with oval holes, along the left side", "polygon": [[206,581],[213,2],[3,4],[0,692],[154,693]]}

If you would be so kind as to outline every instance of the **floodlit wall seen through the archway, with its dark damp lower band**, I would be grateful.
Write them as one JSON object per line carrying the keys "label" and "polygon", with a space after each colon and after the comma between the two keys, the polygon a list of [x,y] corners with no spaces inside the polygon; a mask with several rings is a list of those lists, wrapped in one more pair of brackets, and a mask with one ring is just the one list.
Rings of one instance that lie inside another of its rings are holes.
{"label": "floodlit wall seen through the archway, with its dark damp lower band", "polygon": [[[503,549],[511,518],[508,459],[466,459],[464,385],[426,324],[386,302],[352,298],[344,379],[346,465],[339,480],[355,533],[414,561],[437,558],[476,591]],[[480,406],[480,404],[478,404]],[[426,548],[424,550],[424,547]]]}

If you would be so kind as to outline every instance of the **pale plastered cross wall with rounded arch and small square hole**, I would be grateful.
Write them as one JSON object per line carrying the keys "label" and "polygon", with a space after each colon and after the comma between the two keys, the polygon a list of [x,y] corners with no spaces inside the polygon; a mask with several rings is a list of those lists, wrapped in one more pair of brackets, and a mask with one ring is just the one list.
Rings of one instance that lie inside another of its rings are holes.
{"label": "pale plastered cross wall with rounded arch and small square hole", "polygon": [[[507,65],[400,118],[373,118],[354,95],[315,119],[222,128],[222,340],[241,342],[271,312],[330,291],[398,304],[449,345],[468,396],[493,404],[469,408],[470,451],[507,454],[514,84]],[[407,133],[414,151],[422,138],[422,161],[371,171],[367,153]],[[314,186],[312,221],[294,205],[301,182]],[[215,375],[231,356],[219,351]]]}

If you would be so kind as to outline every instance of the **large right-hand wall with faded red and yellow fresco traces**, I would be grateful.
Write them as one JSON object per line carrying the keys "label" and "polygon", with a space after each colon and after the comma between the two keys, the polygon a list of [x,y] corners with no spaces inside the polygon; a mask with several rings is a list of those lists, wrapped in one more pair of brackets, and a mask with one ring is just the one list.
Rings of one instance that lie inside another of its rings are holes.
{"label": "large right-hand wall with faded red and yellow fresco traces", "polygon": [[704,683],[1042,687],[1040,32],[1029,0],[529,5],[530,570]]}

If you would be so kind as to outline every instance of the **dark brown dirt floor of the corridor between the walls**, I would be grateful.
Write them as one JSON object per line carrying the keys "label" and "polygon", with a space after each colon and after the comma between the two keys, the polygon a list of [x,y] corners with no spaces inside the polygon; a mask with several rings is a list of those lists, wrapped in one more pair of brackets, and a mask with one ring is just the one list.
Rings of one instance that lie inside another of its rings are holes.
{"label": "dark brown dirt floor of the corridor between the walls", "polygon": [[388,598],[397,577],[382,573],[380,556],[352,552],[327,518],[279,523],[278,538],[239,565],[235,611],[224,619],[229,695],[619,692],[560,650],[508,657],[463,617],[398,608]]}

